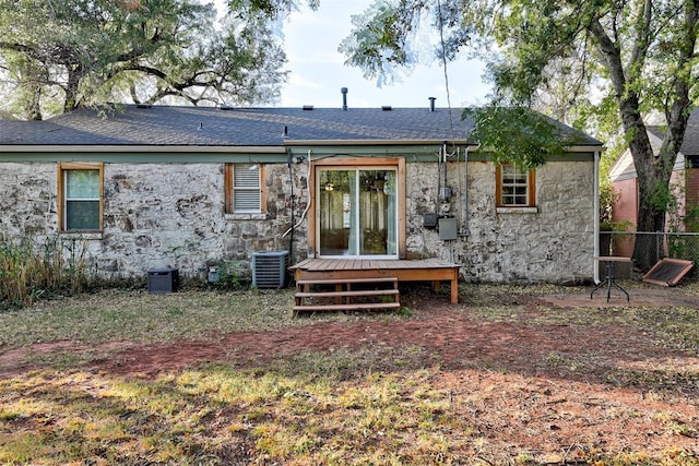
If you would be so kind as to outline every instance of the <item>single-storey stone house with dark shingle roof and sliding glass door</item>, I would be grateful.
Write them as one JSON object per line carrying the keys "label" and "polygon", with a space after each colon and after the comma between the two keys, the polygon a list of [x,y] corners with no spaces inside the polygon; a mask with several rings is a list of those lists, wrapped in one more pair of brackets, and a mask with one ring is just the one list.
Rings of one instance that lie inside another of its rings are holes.
{"label": "single-storey stone house with dark shingle roof and sliding glass door", "polygon": [[261,251],[291,264],[441,259],[467,282],[591,277],[602,144],[554,123],[579,141],[565,156],[495,166],[461,116],[433,99],[1,121],[0,231],[81,241],[107,279],[166,266],[194,277],[220,261],[249,273]]}

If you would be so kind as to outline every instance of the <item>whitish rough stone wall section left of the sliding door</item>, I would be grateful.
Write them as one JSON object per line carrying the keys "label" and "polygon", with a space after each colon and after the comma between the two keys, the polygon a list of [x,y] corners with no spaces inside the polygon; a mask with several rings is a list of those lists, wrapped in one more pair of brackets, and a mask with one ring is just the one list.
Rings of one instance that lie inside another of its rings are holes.
{"label": "whitish rough stone wall section left of the sliding door", "polygon": [[[293,202],[288,170],[265,167],[266,214],[237,216],[224,213],[223,167],[105,164],[103,232],[59,234],[56,164],[2,164],[0,235],[84,249],[91,270],[105,279],[145,277],[163,267],[204,277],[206,266],[220,261],[249,276],[252,252],[289,247],[291,235],[283,236]],[[305,231],[295,235],[304,252],[305,237]]]}

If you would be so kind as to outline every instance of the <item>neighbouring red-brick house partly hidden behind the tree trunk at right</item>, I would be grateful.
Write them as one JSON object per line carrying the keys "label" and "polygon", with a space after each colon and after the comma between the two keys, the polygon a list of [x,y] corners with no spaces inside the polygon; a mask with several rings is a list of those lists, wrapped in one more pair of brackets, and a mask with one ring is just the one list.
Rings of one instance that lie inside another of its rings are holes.
{"label": "neighbouring red-brick house partly hidden behind the tree trunk at right", "polygon": [[[657,153],[663,143],[664,128],[648,126],[653,152]],[[609,169],[612,188],[616,199],[612,207],[612,219],[617,223],[636,225],[638,216],[638,178],[631,153],[627,150]],[[699,109],[689,116],[685,140],[679,147],[673,174],[670,180],[673,193],[677,200],[677,212],[668,217],[667,227],[679,231],[691,231],[690,225],[680,220],[689,208],[699,206]],[[615,240],[615,254],[631,256],[633,253],[632,238]]]}

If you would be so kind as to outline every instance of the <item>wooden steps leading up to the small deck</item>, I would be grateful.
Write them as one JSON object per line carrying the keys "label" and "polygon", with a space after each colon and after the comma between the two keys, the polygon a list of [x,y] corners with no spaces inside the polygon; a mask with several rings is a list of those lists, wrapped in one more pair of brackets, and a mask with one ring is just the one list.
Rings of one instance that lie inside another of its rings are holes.
{"label": "wooden steps leading up to the small deck", "polygon": [[[313,286],[334,289],[315,289]],[[353,285],[383,285],[376,289],[353,289]],[[387,287],[388,285],[388,287]],[[396,277],[301,279],[296,282],[294,313],[308,311],[359,311],[400,309]]]}

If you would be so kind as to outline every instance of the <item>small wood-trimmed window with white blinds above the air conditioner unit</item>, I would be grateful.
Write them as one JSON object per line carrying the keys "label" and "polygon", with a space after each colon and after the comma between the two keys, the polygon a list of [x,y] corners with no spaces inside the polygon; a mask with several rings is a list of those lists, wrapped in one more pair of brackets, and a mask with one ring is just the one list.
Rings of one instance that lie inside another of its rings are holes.
{"label": "small wood-trimmed window with white blinds above the air conditioner unit", "polygon": [[226,213],[262,212],[261,174],[258,164],[226,164]]}

